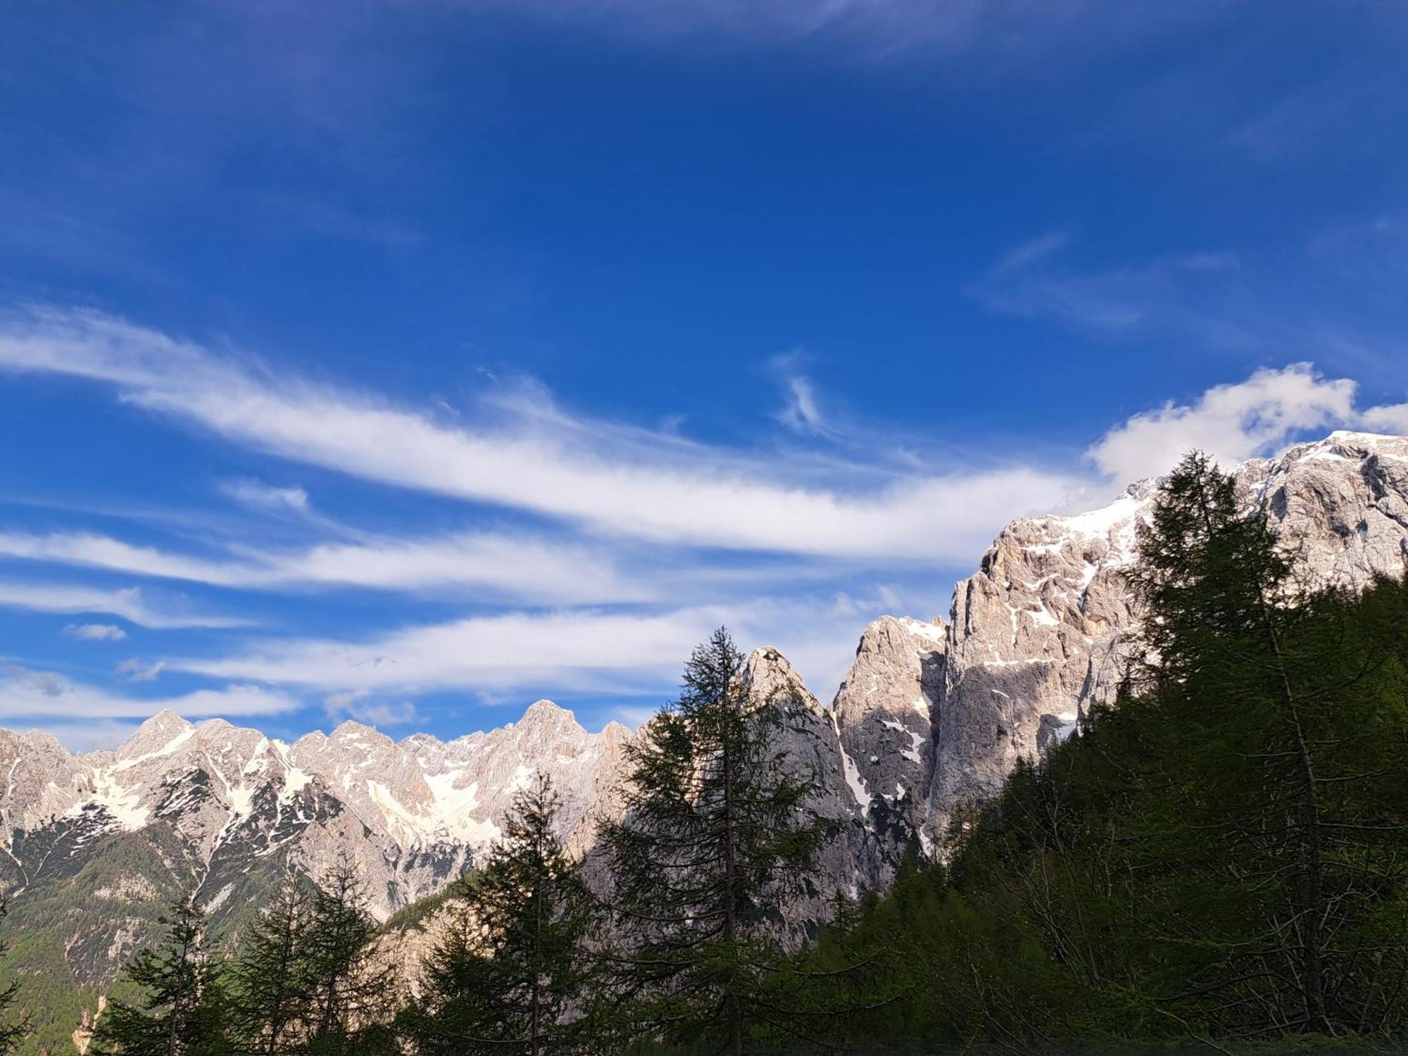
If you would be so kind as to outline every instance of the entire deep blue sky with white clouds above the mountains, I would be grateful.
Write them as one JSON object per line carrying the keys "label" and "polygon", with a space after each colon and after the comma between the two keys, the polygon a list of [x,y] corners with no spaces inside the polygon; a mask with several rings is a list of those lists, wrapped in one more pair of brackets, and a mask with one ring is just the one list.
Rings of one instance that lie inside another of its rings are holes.
{"label": "entire deep blue sky with white clouds above the mountains", "polygon": [[821,697],[1001,525],[1408,431],[1381,3],[0,8],[0,724]]}

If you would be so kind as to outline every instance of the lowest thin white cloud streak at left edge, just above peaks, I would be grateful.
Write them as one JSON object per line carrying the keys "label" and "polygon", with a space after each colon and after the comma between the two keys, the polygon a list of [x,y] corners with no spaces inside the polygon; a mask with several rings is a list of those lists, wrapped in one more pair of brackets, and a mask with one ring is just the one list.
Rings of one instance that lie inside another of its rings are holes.
{"label": "lowest thin white cloud streak at left edge, just above peaks", "polygon": [[273,715],[301,704],[283,693],[259,686],[204,689],[158,700],[120,697],[94,686],[70,681],[55,672],[14,665],[0,666],[0,721],[44,717],[146,718],[170,708],[187,718],[207,715]]}

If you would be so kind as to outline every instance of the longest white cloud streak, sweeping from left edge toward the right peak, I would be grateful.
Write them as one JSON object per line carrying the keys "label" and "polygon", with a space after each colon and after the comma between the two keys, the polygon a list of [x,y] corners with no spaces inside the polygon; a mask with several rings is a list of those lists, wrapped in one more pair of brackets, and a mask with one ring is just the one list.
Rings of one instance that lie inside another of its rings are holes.
{"label": "longest white cloud streak, sweeping from left edge toward the right peak", "polygon": [[8,320],[0,365],[104,380],[131,404],[283,458],[658,542],[966,558],[1014,513],[1059,505],[1079,486],[1026,466],[912,474],[856,467],[818,486],[738,452],[572,418],[529,398],[522,404],[532,414],[507,427],[444,424],[93,313]]}

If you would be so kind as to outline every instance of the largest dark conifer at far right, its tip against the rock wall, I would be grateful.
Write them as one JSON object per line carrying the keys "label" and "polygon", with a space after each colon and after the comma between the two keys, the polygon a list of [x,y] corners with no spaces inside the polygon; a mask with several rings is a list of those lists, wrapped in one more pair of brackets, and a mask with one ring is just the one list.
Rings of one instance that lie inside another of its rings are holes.
{"label": "largest dark conifer at far right, its tip against the rock wall", "polygon": [[1356,1022],[1356,964],[1402,949],[1363,936],[1373,893],[1402,883],[1405,829],[1360,791],[1401,742],[1401,674],[1357,641],[1347,598],[1293,579],[1264,515],[1205,456],[1167,479],[1139,543],[1133,710],[1150,715],[1159,790],[1140,867],[1170,877],[1150,891],[1178,990],[1229,1029]]}

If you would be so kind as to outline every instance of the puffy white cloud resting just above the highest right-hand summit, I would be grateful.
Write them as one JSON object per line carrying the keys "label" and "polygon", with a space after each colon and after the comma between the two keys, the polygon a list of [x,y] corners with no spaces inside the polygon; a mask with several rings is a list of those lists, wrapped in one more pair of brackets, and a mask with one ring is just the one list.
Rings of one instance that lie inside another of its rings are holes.
{"label": "puffy white cloud resting just above the highest right-hand summit", "polygon": [[1311,429],[1374,417],[1354,410],[1354,383],[1322,377],[1309,363],[1257,370],[1245,382],[1208,389],[1191,404],[1166,403],[1115,427],[1087,455],[1117,482],[1171,469],[1193,449],[1224,465],[1286,446]]}

